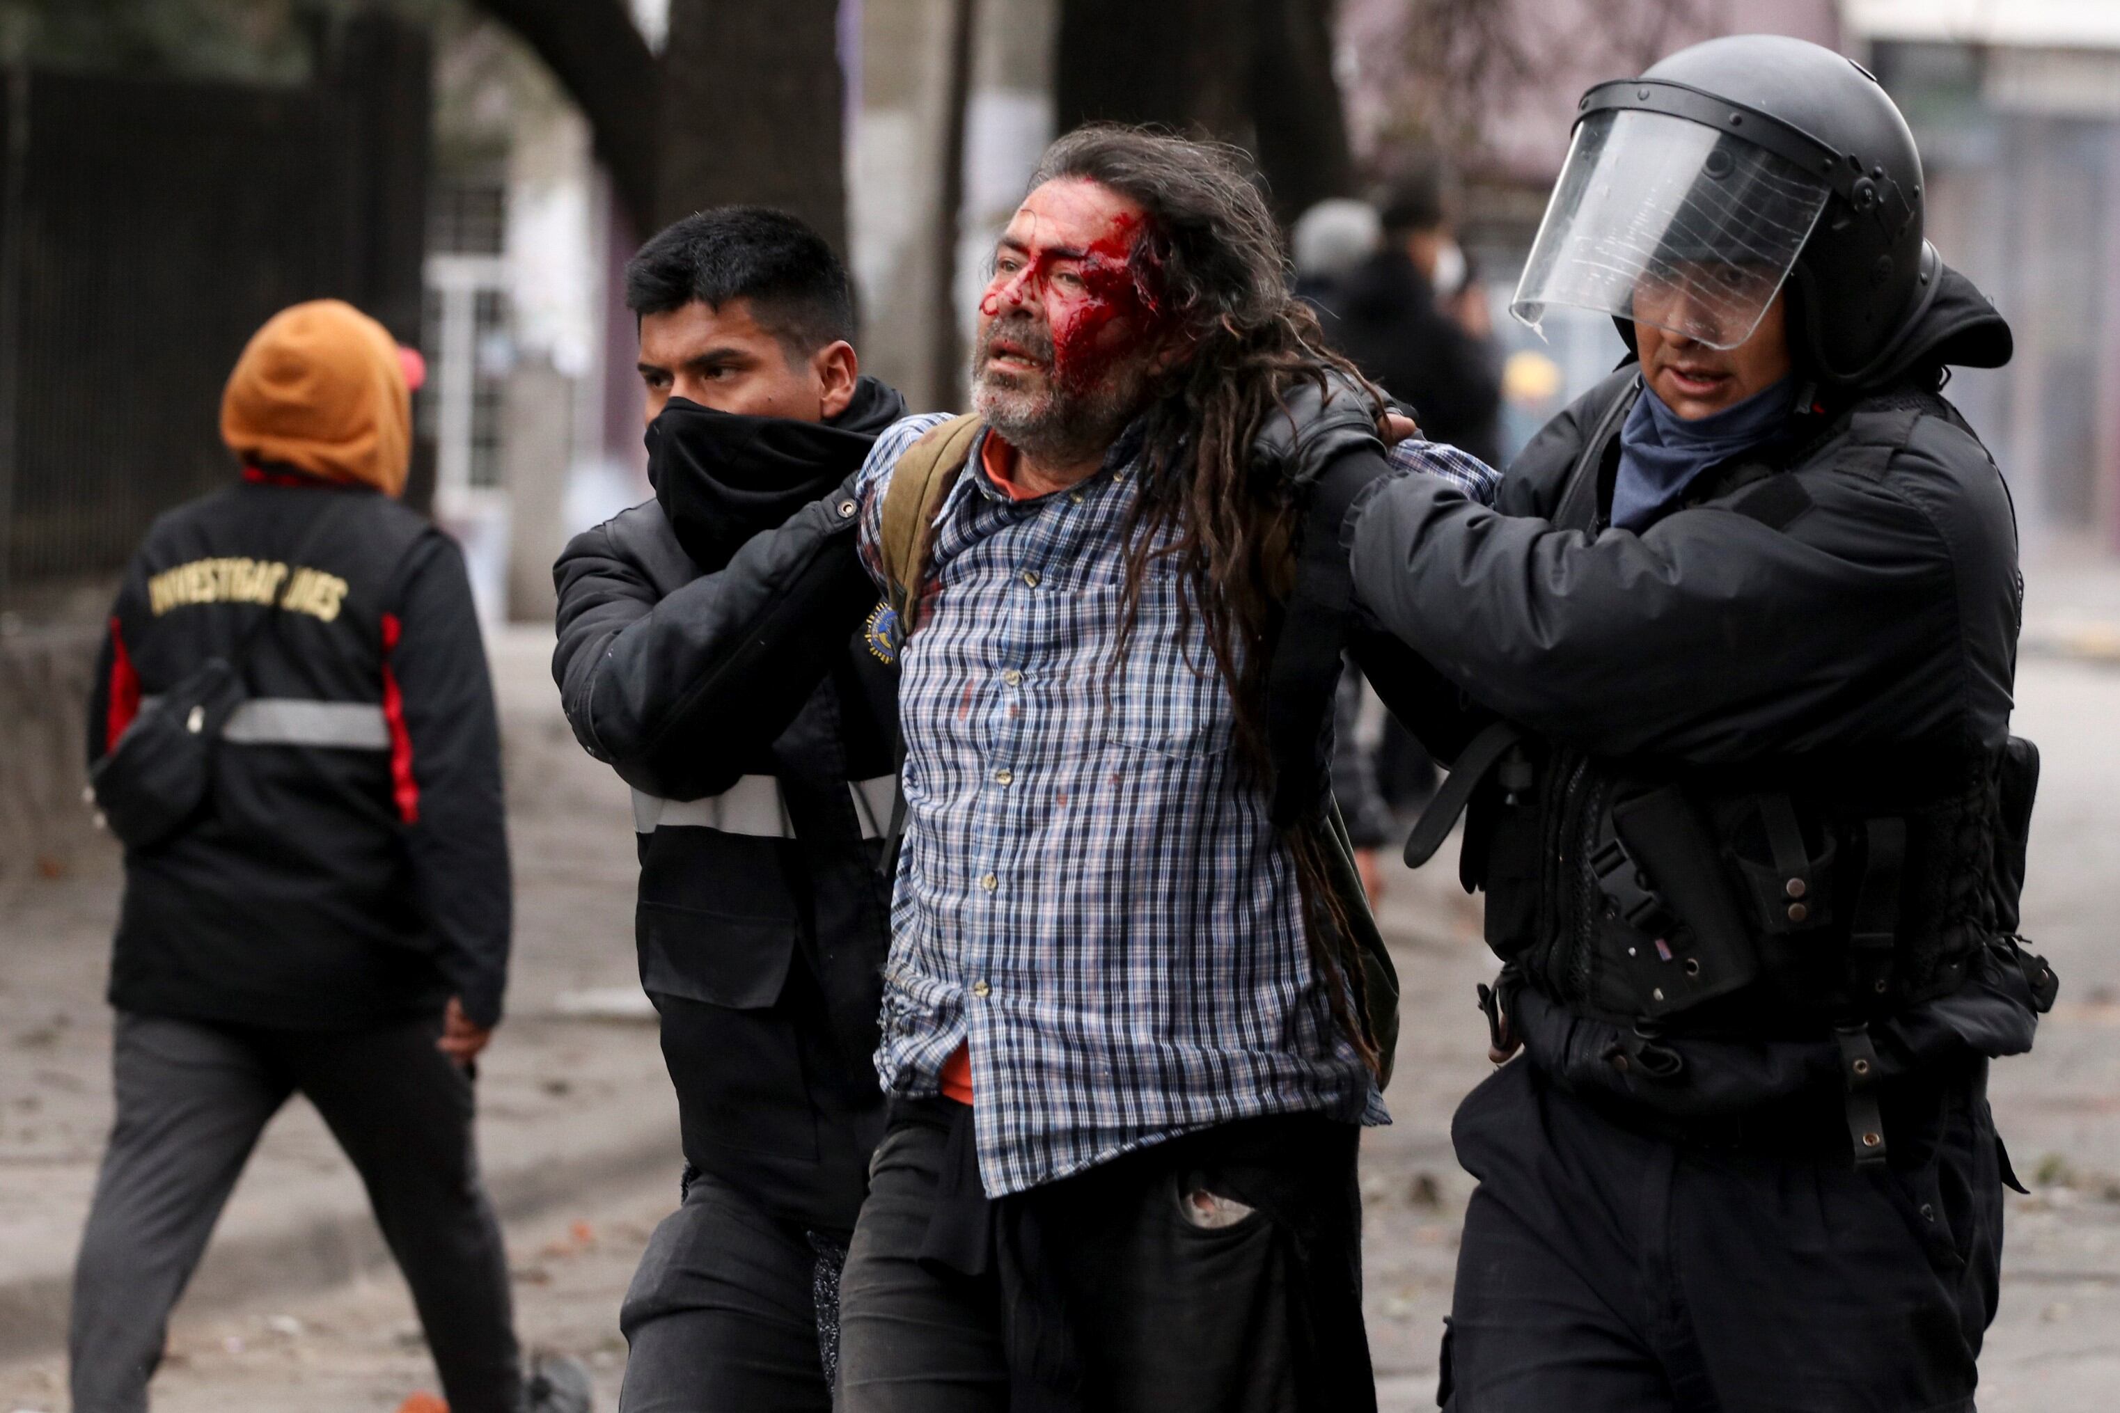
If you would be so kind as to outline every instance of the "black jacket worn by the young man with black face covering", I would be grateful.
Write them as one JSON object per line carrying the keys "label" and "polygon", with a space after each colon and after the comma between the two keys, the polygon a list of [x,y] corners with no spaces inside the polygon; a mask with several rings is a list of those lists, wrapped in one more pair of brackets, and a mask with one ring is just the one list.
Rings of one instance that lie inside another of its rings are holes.
{"label": "black jacket worn by the young man with black face covering", "polygon": [[[873,436],[901,411],[876,388],[840,426]],[[649,500],[553,568],[566,716],[644,826],[636,947],[685,1157],[820,1229],[852,1227],[882,1131],[878,822],[897,771],[897,667],[863,631],[878,595],[844,504],[827,496],[702,574]],[[746,777],[776,782],[784,837],[655,826],[661,801]]]}

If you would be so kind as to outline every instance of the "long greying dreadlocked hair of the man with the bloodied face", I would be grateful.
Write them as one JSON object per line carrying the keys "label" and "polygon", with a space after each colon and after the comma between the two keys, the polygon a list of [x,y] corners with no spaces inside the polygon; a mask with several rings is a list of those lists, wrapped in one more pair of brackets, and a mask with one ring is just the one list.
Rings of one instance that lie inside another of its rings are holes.
{"label": "long greying dreadlocked hair of the man with the bloodied face", "polygon": [[[1030,186],[1068,178],[1141,205],[1147,220],[1128,265],[1158,333],[1183,350],[1151,383],[1143,415],[1111,672],[1126,663],[1151,561],[1170,559],[1189,589],[1181,629],[1198,606],[1234,703],[1240,761],[1270,790],[1266,672],[1295,578],[1300,506],[1287,485],[1261,483],[1251,447],[1270,417],[1285,415],[1285,396],[1300,381],[1323,388],[1325,371],[1338,369],[1367,383],[1325,347],[1317,316],[1293,297],[1280,233],[1240,148],[1094,123],[1045,148]],[[1331,886],[1321,822],[1295,824],[1283,839],[1295,860],[1310,964],[1333,1021],[1374,1072],[1376,1049],[1350,1010],[1350,1000],[1365,1004],[1365,987],[1361,966],[1342,951],[1353,930]]]}

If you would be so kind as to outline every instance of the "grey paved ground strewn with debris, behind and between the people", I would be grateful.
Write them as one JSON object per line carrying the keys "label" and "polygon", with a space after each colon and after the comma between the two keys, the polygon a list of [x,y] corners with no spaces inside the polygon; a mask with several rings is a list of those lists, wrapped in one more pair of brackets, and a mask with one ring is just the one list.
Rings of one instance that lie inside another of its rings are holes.
{"label": "grey paved ground strewn with debris, behind and between the people", "polygon": [[[628,979],[628,847],[623,801],[602,794],[549,735],[555,718],[538,695],[538,652],[534,638],[511,636],[498,655],[524,962],[517,1019],[496,1042],[498,1078],[481,1089],[488,1148],[507,1148],[513,1161],[532,1161],[541,1144],[579,1157],[613,1131],[634,1142],[636,1127],[666,1121],[651,1030],[555,1015],[562,991]],[[1999,1066],[1995,1078],[2001,1131],[2035,1195],[2010,1203],[2003,1309],[1982,1358],[1980,1407],[1991,1413],[2103,1413],[2120,1385],[2120,955],[2101,896],[2120,877],[2120,735],[2109,722],[2120,722],[2120,669],[2025,663],[2018,729],[2046,752],[2027,932],[2065,985],[2037,1053]],[[547,735],[526,735],[536,731]],[[1397,1123],[1370,1135],[1363,1163],[1370,1332],[1384,1407],[1397,1413],[1433,1407],[1435,1343],[1469,1191],[1450,1157],[1448,1116],[1486,1072],[1471,1008],[1471,987],[1490,970],[1478,913],[1448,866],[1429,873],[1395,877],[1386,900],[1408,987],[1389,1095]],[[0,1224],[38,1250],[70,1246],[108,1116],[95,1002],[108,883],[108,873],[45,883],[0,924]],[[53,1138],[53,1125],[64,1135]],[[231,1227],[261,1229],[276,1201],[267,1176],[316,1184],[301,1188],[316,1203],[346,1197],[350,1174],[299,1106],[276,1125],[261,1163],[269,1167],[237,1193]],[[526,1341],[585,1358],[606,1400],[623,1373],[617,1303],[640,1244],[674,1201],[672,1176],[674,1163],[640,1161],[579,1191],[526,1193],[524,1216],[509,1224]],[[11,1260],[19,1256],[0,1241],[0,1284]],[[231,1271],[210,1301],[178,1311],[157,1381],[163,1413],[297,1400],[305,1413],[354,1413],[394,1409],[409,1390],[432,1388],[388,1267],[307,1290],[263,1277],[246,1288],[246,1275]],[[0,1413],[55,1413],[59,1375],[49,1349],[0,1364]]]}

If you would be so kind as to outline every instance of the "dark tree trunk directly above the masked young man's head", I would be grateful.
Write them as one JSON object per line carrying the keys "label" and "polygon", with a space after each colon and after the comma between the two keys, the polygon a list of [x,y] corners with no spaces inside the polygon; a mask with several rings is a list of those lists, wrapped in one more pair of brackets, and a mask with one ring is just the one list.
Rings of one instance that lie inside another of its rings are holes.
{"label": "dark tree trunk directly above the masked young man's head", "polygon": [[837,0],[670,0],[655,214],[778,205],[846,250]]}

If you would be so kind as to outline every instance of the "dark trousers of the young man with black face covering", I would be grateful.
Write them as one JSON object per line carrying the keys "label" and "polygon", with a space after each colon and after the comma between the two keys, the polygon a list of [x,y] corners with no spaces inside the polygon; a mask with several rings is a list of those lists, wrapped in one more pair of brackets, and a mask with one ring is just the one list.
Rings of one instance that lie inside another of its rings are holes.
{"label": "dark trousers of the young man with black face covering", "polygon": [[844,1254],[846,1233],[806,1231],[691,1174],[619,1309],[619,1413],[829,1413],[820,1343],[835,1337]]}

